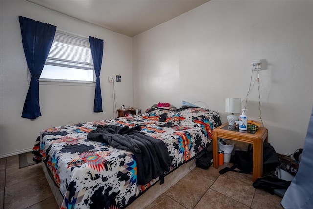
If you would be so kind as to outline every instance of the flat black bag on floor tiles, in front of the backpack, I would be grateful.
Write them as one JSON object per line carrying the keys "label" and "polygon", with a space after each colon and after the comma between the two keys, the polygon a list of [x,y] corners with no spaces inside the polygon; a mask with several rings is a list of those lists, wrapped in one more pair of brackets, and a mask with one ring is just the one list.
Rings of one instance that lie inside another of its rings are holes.
{"label": "flat black bag on floor tiles, in front of the backpack", "polygon": [[254,183],[254,188],[264,189],[265,191],[274,194],[275,189],[287,189],[291,181],[279,179],[275,176],[264,176],[258,178]]}

